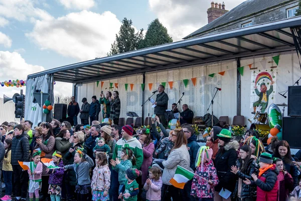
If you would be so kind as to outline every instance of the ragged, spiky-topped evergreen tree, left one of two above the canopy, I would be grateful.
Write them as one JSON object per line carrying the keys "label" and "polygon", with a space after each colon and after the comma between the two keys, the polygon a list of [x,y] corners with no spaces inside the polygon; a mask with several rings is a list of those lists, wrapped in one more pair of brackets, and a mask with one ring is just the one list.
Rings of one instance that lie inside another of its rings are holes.
{"label": "ragged, spiky-topped evergreen tree, left one of two above the canopy", "polygon": [[109,56],[136,50],[142,39],[143,29],[135,34],[135,29],[132,27],[132,21],[124,18],[120,30],[118,34],[116,34],[116,39],[114,43],[111,44],[111,50],[107,55]]}

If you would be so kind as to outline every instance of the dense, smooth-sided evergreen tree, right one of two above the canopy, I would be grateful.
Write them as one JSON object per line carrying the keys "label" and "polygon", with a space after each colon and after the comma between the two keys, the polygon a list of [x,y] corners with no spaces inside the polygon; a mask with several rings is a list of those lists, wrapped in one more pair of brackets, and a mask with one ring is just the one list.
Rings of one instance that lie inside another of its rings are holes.
{"label": "dense, smooth-sided evergreen tree, right one of two above the canopy", "polygon": [[155,19],[148,25],[145,38],[141,41],[138,49],[153,47],[173,42],[172,37],[168,34],[166,27],[164,27],[159,19]]}

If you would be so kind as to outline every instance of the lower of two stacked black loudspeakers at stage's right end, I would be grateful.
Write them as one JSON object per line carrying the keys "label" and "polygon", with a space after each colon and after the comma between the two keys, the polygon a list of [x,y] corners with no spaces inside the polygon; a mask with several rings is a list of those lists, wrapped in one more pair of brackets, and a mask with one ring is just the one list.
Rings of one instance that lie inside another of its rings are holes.
{"label": "lower of two stacked black loudspeakers at stage's right end", "polygon": [[282,120],[282,139],[290,148],[301,148],[301,117],[284,117]]}

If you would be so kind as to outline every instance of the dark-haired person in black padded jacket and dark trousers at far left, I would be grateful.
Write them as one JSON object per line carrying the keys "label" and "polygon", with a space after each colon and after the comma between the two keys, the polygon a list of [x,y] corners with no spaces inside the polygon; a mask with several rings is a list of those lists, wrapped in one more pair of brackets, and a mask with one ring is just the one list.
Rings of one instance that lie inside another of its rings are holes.
{"label": "dark-haired person in black padded jacket and dark trousers at far left", "polygon": [[13,186],[16,198],[21,200],[26,200],[28,186],[28,172],[23,171],[18,163],[18,161],[29,162],[29,140],[24,132],[25,128],[22,124],[16,126],[11,157],[14,174]]}

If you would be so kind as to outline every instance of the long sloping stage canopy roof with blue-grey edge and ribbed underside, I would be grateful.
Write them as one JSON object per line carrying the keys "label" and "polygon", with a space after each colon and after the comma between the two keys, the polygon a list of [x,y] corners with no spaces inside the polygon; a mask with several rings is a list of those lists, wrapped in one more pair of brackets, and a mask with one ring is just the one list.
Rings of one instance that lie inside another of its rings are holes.
{"label": "long sloping stage canopy roof with blue-grey edge and ribbed underside", "polygon": [[53,80],[87,83],[142,72],[164,70],[295,50],[290,28],[301,17],[235,29],[113,56],[57,67],[28,76],[53,74]]}

